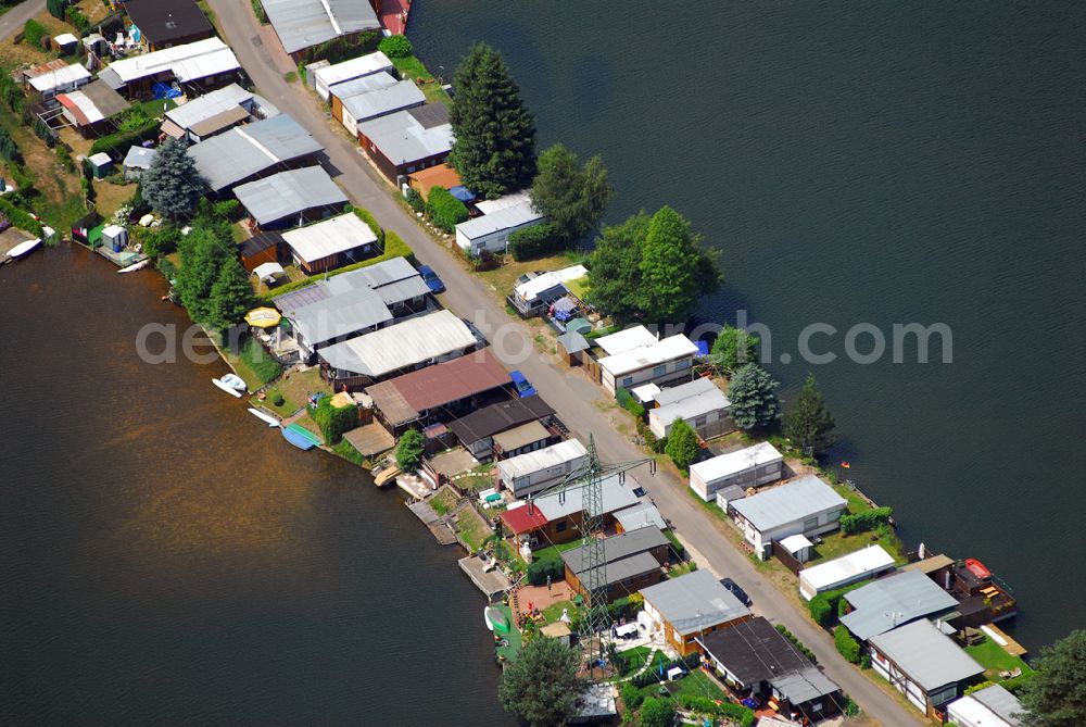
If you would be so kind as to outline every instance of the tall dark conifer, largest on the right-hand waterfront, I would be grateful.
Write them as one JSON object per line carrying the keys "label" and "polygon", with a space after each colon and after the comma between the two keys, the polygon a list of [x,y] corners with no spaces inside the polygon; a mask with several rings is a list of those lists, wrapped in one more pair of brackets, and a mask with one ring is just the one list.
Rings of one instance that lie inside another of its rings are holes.
{"label": "tall dark conifer, largest on the right-hand waterfront", "polygon": [[456,137],[449,162],[469,189],[493,199],[523,189],[535,173],[535,121],[502,54],[477,43],[456,68],[449,112]]}

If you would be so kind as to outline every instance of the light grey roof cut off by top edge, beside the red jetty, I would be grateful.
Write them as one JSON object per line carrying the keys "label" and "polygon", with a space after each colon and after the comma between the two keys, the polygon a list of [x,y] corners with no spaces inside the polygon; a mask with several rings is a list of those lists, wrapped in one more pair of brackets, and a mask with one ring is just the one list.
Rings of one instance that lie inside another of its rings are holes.
{"label": "light grey roof cut off by top edge, beside the red jetty", "polygon": [[341,35],[381,27],[366,0],[262,0],[262,3],[288,53]]}

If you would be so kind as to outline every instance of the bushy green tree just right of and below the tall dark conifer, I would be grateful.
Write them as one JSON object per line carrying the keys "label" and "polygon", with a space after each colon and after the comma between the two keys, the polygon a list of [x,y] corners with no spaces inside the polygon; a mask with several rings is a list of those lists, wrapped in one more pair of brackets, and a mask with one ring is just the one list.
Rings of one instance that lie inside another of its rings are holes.
{"label": "bushy green tree just right of and below the tall dark conifer", "polygon": [[540,154],[536,167],[532,206],[550,217],[564,245],[580,241],[615,197],[603,159],[593,156],[581,166],[577,154],[556,143]]}

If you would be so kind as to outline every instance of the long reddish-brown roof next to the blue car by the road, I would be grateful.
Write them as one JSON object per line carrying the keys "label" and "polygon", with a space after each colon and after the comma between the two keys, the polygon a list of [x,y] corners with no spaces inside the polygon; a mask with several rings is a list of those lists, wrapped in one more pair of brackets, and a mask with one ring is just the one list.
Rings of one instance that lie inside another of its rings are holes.
{"label": "long reddish-brown roof next to the blue car by the road", "polygon": [[427,366],[366,388],[374,404],[393,425],[421,412],[496,389],[509,383],[509,372],[490,349]]}

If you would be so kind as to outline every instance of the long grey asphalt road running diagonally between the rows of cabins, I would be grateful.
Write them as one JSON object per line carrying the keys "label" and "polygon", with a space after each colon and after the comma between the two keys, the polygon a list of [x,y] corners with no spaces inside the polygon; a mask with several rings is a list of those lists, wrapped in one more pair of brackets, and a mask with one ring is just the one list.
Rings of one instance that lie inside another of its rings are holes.
{"label": "long grey asphalt road running diagonally between the rows of cabins", "polygon": [[[473,321],[491,341],[497,356],[510,367],[523,372],[571,430],[584,441],[592,434],[601,459],[605,462],[642,459],[643,453],[615,430],[592,403],[594,399],[605,396],[603,390],[535,354],[529,329],[512,321],[484,284],[466,272],[451,252],[443,250],[442,245],[425,233],[391,198],[388,184],[358,154],[355,145],[331,127],[324,111],[301,84],[286,82],[283,71],[291,68],[292,64],[267,28],[262,34],[250,4],[237,0],[211,0],[211,5],[228,42],[260,91],[325,146],[329,171],[352,201],[372,212],[382,226],[395,230],[418,258],[441,276],[447,287],[443,296],[446,308]],[[761,615],[787,626],[818,655],[826,676],[841,685],[869,716],[887,727],[921,724],[918,716],[906,711],[845,662],[834,648],[833,640],[813,626],[775,586],[759,576],[747,556],[718,531],[720,525],[690,499],[682,481],[667,473],[651,476],[647,466],[633,474],[682,539],[707,561],[709,567],[719,577],[735,578]]]}

